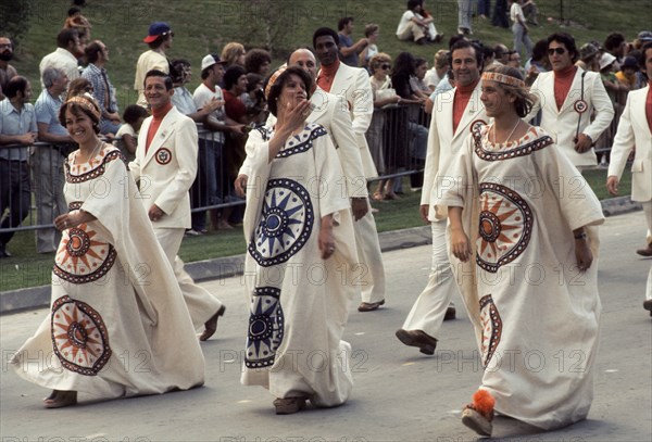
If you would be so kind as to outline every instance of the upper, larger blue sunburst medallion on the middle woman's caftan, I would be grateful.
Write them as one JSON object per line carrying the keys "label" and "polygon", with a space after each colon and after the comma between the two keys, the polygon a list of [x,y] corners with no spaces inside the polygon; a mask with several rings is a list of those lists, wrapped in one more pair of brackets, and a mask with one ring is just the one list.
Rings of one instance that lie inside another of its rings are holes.
{"label": "upper, larger blue sunburst medallion on the middle woman's caftan", "polygon": [[310,194],[303,186],[287,178],[271,179],[249,254],[263,267],[285,263],[310,238],[314,217]]}

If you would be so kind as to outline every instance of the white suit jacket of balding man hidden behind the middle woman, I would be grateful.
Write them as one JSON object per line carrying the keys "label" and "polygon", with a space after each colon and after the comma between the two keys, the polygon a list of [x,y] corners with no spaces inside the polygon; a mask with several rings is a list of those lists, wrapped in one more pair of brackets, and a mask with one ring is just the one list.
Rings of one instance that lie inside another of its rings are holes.
{"label": "white suit jacket of balding man hidden behind the middle woman", "polygon": [[[326,92],[324,89],[317,88],[310,98],[313,104],[313,111],[306,118],[308,123],[316,123],[322,125],[328,135],[335,148],[337,149],[340,164],[344,177],[347,178],[346,190],[349,198],[366,198],[366,179],[360,157],[360,148],[355,140],[355,134],[351,126],[351,116],[341,97]],[[273,126],[276,123],[274,115],[267,118],[267,126]],[[239,174],[247,176],[251,175],[250,155],[247,152],[247,159],[240,167]],[[339,184],[338,184],[339,185]]]}

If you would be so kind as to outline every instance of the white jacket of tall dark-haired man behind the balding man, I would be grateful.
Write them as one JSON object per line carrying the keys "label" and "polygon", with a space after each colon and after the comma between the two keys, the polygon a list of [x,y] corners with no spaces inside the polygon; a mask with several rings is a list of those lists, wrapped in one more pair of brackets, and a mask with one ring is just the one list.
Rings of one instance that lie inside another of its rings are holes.
{"label": "white jacket of tall dark-haired man behind the balding man", "polygon": [[369,74],[361,67],[351,67],[340,63],[329,92],[343,98],[351,113],[351,123],[360,148],[360,157],[365,177],[377,177],[378,172],[364,136],[374,115],[374,92],[372,91]]}

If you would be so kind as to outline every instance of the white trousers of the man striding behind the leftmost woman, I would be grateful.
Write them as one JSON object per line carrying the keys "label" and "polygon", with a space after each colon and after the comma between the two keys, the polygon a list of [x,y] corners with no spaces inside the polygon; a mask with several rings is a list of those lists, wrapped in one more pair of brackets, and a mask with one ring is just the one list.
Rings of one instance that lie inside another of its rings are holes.
{"label": "white trousers of the man striding behind the leftmost woman", "polygon": [[154,226],[156,239],[163,248],[170,265],[174,269],[174,276],[184,294],[184,301],[190,313],[192,325],[196,330],[199,330],[222,307],[222,302],[208,290],[196,285],[190,275],[184,269],[184,262],[177,256],[177,253],[179,252],[185,231],[186,229],[184,228],[159,229]]}

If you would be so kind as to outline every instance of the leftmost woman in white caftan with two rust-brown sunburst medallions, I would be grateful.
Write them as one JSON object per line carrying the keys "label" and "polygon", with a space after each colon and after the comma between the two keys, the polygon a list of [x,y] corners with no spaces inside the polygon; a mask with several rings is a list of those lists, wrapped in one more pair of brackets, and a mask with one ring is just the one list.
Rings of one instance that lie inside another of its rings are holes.
{"label": "leftmost woman in white caftan with two rust-brown sunburst medallions", "polygon": [[[11,364],[52,389],[48,408],[201,386],[204,359],[174,273],[120,150],[97,137],[99,108],[71,98],[60,119],[79,150],[65,163],[70,212],[52,271],[52,303]],[[35,363],[38,361],[38,363]]]}

